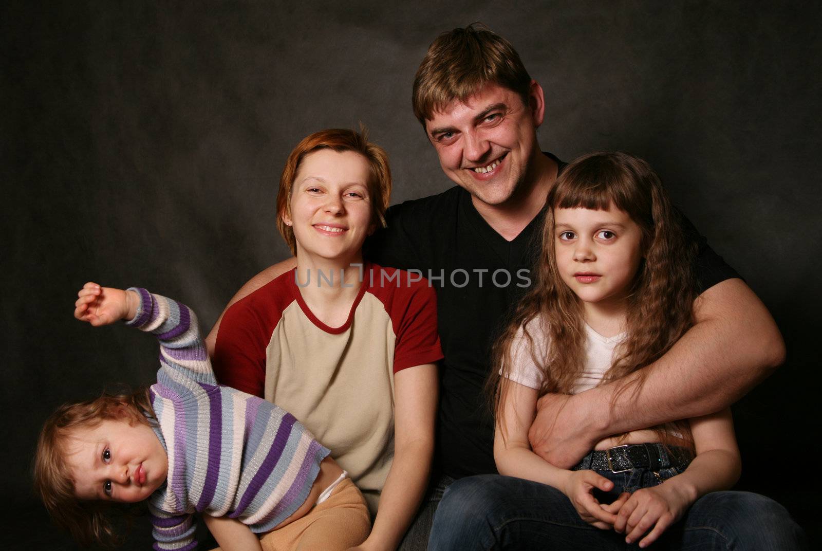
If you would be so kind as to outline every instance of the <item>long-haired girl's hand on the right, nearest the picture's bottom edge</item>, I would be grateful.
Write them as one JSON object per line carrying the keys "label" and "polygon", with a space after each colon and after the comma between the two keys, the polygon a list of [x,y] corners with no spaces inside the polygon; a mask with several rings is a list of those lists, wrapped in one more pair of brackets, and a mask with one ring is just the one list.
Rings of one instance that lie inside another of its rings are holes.
{"label": "long-haired girl's hand on the right, nearest the picture's bottom edge", "polygon": [[626,543],[631,544],[653,526],[640,541],[640,547],[648,547],[668,526],[681,519],[693,501],[677,484],[642,488],[632,493],[620,508],[614,530],[627,533]]}

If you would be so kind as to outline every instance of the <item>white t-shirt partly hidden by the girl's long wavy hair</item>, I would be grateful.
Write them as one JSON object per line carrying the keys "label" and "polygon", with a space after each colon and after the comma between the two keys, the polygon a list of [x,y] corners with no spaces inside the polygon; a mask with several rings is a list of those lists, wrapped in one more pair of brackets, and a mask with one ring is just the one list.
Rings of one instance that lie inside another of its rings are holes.
{"label": "white t-shirt partly hidden by the girl's long wavy hair", "polygon": [[[547,357],[547,336],[543,333],[539,318],[534,318],[528,324],[528,332],[533,339],[533,350],[529,347],[529,340],[525,337],[523,328],[517,331],[514,342],[511,343],[511,368],[508,378],[519,382],[520,385],[539,389],[543,383],[543,373],[534,363],[533,356],[543,362]],[[605,373],[613,363],[614,349],[625,339],[626,334],[604,337],[591,326],[584,323],[585,329],[585,363],[580,377],[571,387],[571,394],[579,394],[589,388],[596,387],[603,380]],[[532,354],[533,351],[533,354]]]}

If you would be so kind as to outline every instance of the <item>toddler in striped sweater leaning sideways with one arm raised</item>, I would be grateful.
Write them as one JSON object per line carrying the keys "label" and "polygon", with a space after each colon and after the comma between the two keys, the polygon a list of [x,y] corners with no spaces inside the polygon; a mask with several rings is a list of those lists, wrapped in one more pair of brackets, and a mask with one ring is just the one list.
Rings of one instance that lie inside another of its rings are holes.
{"label": "toddler in striped sweater leaning sideways with one arm raised", "polygon": [[75,317],[126,319],[161,352],[155,385],[63,405],[40,434],[35,485],[81,543],[116,541],[104,512],[114,502],[147,503],[159,550],[196,548],[195,512],[222,549],[348,549],[367,537],[363,496],[329,450],[276,405],[217,385],[185,305],[89,283]]}

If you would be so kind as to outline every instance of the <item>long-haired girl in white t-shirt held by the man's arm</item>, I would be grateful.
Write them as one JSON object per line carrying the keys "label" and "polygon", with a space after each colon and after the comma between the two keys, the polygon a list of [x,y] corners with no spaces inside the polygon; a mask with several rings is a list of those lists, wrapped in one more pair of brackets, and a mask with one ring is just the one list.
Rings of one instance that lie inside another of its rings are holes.
{"label": "long-haired girl in white t-shirt held by the man's arm", "polygon": [[[528,430],[540,396],[630,377],[671,348],[692,322],[694,251],[657,175],[630,155],[575,160],[547,205],[537,280],[494,350],[496,465],[560,490],[584,521],[629,544],[647,532],[645,547],[738,479],[730,410],[606,438],[573,470],[533,453]],[[643,384],[628,380],[628,392]]]}

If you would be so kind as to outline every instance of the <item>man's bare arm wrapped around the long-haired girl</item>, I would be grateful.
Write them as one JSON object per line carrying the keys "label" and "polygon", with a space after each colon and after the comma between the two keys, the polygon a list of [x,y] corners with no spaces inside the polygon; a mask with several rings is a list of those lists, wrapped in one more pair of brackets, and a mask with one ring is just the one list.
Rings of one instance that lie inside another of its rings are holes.
{"label": "man's bare arm wrapped around the long-haired girl", "polygon": [[609,435],[723,410],[784,361],[774,318],[742,280],[706,290],[694,315],[677,344],[640,370],[647,378],[636,394],[619,392],[632,374],[575,396],[543,396],[529,430],[533,451],[570,468]]}

